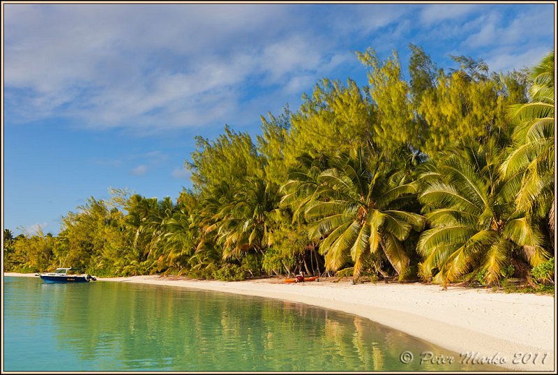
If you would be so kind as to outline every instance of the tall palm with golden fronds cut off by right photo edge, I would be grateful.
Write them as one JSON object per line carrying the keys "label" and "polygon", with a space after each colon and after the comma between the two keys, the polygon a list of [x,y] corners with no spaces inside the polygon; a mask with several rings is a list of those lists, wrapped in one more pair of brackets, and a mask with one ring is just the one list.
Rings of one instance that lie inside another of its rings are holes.
{"label": "tall palm with golden fronds cut off by right photo edge", "polygon": [[[554,234],[554,51],[531,70],[531,102],[511,105],[509,117],[518,125],[502,163],[504,178],[522,174],[515,203],[529,216],[546,216]],[[540,212],[542,210],[542,212]]]}

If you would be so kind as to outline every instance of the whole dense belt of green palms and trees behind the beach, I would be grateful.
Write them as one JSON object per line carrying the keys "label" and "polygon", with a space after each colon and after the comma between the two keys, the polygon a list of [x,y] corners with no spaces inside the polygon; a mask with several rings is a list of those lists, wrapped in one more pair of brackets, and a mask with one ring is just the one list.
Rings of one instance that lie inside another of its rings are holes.
{"label": "whole dense belt of green palms and trees behind the beach", "polygon": [[359,53],[369,84],[322,80],[253,140],[197,138],[193,189],[112,190],[58,237],[4,230],[4,270],[98,276],[351,274],[443,284],[554,283],[554,52],[529,72],[409,45]]}

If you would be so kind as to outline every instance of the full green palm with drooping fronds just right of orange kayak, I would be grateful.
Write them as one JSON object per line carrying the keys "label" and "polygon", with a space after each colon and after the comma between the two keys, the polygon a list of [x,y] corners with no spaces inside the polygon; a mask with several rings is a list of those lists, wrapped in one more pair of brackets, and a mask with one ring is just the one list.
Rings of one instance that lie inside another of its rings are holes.
{"label": "full green palm with drooping fronds just right of orange kayak", "polygon": [[369,159],[359,150],[355,158],[340,156],[319,171],[319,162],[303,156],[283,186],[282,203],[294,207],[295,217],[303,212],[311,239],[323,239],[319,251],[326,269],[336,271],[352,260],[355,280],[370,261],[383,272],[377,261],[382,254],[404,274],[409,255],[402,242],[423,223],[422,216],[402,209],[416,193],[405,173],[382,173],[380,164],[370,171]]}

